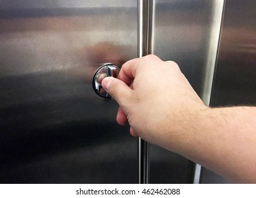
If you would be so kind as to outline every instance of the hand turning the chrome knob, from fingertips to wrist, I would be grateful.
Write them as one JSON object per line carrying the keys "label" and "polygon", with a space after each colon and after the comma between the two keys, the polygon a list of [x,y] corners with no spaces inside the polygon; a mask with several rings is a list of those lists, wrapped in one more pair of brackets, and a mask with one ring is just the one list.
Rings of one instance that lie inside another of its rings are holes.
{"label": "hand turning the chrome knob, from fingertips to wrist", "polygon": [[128,122],[130,134],[160,146],[179,141],[184,123],[206,108],[179,66],[155,55],[126,62],[118,78],[104,78],[102,86],[120,105],[118,124]]}

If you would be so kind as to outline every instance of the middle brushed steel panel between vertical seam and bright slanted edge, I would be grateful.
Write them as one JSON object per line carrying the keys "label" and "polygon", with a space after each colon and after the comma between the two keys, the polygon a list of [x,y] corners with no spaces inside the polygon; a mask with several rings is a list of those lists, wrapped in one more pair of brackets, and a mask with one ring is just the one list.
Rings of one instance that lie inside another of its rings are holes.
{"label": "middle brushed steel panel between vertical seam and bright slanted edge", "polygon": [[[152,1],[152,54],[177,62],[206,104],[211,94],[222,11],[223,1]],[[150,183],[194,182],[194,163],[157,146],[150,145],[149,151]]]}

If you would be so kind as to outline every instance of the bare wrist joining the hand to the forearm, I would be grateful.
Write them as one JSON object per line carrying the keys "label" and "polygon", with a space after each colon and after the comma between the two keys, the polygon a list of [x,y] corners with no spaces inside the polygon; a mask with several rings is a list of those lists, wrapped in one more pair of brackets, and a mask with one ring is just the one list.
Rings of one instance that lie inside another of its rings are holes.
{"label": "bare wrist joining the hand to the forearm", "polygon": [[[200,141],[200,133],[204,131],[207,116],[211,115],[212,108],[203,103],[184,107],[183,111],[177,111],[172,115],[162,130],[164,147],[170,151],[182,154],[191,152]],[[160,145],[162,146],[162,145]]]}

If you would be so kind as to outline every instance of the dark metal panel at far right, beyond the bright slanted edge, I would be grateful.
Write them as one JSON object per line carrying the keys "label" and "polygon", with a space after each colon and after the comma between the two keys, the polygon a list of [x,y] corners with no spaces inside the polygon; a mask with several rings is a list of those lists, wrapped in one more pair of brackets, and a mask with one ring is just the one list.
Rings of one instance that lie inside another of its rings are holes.
{"label": "dark metal panel at far right, beyond the bright slanted edge", "polygon": [[[256,1],[226,0],[211,106],[256,105]],[[226,183],[203,170],[202,183]]]}

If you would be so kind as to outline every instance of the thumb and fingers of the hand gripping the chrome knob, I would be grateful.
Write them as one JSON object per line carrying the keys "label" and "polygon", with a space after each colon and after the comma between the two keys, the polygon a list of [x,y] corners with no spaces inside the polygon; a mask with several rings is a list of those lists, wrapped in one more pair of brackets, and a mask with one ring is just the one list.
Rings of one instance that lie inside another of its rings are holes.
{"label": "thumb and fingers of the hand gripping the chrome knob", "polygon": [[[154,75],[154,73],[152,73],[152,71],[154,71],[153,68],[158,64],[162,64],[162,60],[154,55],[132,59],[123,64],[118,78],[106,77],[101,81],[101,86],[120,106],[116,116],[118,124],[126,124],[128,122],[127,115],[130,115],[130,112],[134,109],[133,102],[135,101],[134,97],[136,95],[133,95],[135,94],[133,90],[133,80],[136,77],[141,79]],[[151,73],[147,76],[145,75],[145,71],[151,71]],[[138,136],[133,127],[130,127],[130,134],[132,136]]]}

